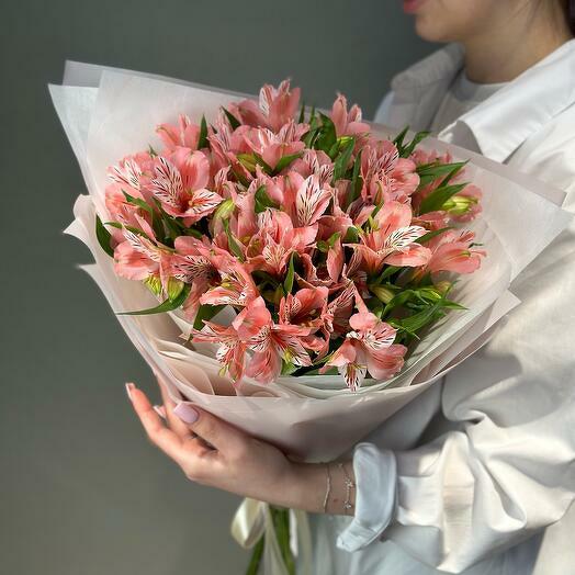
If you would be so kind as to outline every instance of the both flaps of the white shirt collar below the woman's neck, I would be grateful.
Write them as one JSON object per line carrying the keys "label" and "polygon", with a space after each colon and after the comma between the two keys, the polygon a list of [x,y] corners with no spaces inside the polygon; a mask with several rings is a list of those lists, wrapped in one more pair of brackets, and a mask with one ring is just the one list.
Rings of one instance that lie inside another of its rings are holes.
{"label": "both flaps of the white shirt collar below the woman's neck", "polygon": [[[419,102],[415,109],[418,127],[427,127],[439,104],[463,67],[464,50],[449,44],[396,76],[392,81],[398,101]],[[484,156],[507,159],[530,135],[575,103],[575,40],[507,83],[484,102],[446,127],[446,136],[465,124]]]}

